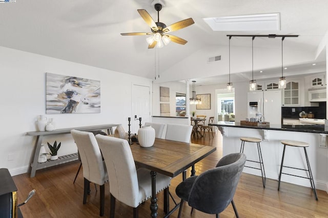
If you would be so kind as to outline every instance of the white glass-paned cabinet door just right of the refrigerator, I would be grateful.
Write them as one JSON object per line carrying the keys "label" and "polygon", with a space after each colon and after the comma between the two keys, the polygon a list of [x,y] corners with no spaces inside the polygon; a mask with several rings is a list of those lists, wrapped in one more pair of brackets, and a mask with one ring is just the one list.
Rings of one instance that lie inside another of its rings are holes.
{"label": "white glass-paned cabinet door just right of the refrigerator", "polygon": [[282,92],[283,106],[300,106],[300,81],[293,80],[286,84]]}

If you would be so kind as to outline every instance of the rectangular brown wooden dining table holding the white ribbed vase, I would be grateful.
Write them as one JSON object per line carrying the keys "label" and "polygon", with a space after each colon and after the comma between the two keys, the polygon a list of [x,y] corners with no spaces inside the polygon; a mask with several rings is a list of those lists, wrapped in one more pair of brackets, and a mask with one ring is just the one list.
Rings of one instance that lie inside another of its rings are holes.
{"label": "rectangular brown wooden dining table holding the white ribbed vase", "polygon": [[[131,144],[135,164],[138,167],[145,167],[151,171],[151,217],[157,217],[156,174],[160,173],[173,178],[215,150],[216,147],[159,138],[156,138],[154,145],[148,148],[140,147],[137,143]],[[176,205],[169,211],[169,201],[165,202],[164,212],[166,217],[178,207],[179,205]]]}

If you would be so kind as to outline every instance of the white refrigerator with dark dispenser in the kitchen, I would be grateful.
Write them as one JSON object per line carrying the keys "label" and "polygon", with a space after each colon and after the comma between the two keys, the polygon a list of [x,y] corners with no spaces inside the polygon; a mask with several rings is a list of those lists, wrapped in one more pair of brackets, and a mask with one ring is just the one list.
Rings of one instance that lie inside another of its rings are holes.
{"label": "white refrigerator with dark dispenser in the kitchen", "polygon": [[[248,118],[262,113],[265,122],[281,124],[281,90],[248,92]],[[256,104],[257,103],[257,104]]]}

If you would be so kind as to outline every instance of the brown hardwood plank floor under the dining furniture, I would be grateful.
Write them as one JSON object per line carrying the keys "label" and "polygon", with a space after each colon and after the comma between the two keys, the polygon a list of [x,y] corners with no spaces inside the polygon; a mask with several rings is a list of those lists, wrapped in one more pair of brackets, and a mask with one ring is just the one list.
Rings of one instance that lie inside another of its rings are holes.
{"label": "brown hardwood plank floor under the dining furniture", "polygon": [[[216,165],[222,157],[221,135],[214,139],[206,137],[192,142],[217,147],[217,151],[196,164],[196,174],[200,174]],[[79,162],[71,162],[58,166],[41,169],[34,178],[29,174],[14,176],[18,188],[18,203],[25,200],[29,191],[36,190],[33,198],[20,207],[27,217],[99,217],[99,191],[91,185],[91,194],[87,204],[83,204],[83,173],[82,171],[73,184]],[[190,174],[190,171],[189,171]],[[170,191],[176,201],[175,187],[181,182],[182,176],[174,178]],[[260,177],[242,174],[235,193],[234,201],[240,217],[328,217],[328,195],[325,191],[317,190],[319,200],[314,199],[311,188],[282,183],[277,191],[276,180],[267,179],[265,188]],[[99,190],[99,187],[98,187]],[[110,192],[109,185],[105,187],[105,216],[109,217]],[[173,205],[170,201],[171,208]],[[139,217],[150,217],[150,201],[139,206]],[[163,194],[158,195],[158,217],[163,216]],[[215,217],[215,215],[194,210],[185,204],[182,217]],[[170,217],[177,217],[176,210]],[[231,205],[224,210],[220,217],[234,217]],[[116,201],[115,217],[133,217],[132,208]]]}

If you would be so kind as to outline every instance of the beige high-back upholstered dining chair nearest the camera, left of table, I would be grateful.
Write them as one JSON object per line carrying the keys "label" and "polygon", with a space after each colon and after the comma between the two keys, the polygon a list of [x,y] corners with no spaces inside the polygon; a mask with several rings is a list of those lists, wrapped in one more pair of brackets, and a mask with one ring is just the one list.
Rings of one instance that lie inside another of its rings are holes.
{"label": "beige high-back upholstered dining chair nearest the camera, left of table", "polygon": [[[152,196],[149,169],[136,169],[127,140],[104,135],[97,135],[96,139],[103,153],[109,177],[113,178],[110,183],[110,217],[115,216],[115,199],[133,207],[133,217],[138,217],[138,206]],[[170,182],[171,177],[157,173],[156,193],[161,190],[169,192]],[[168,196],[165,195],[166,198]]]}

